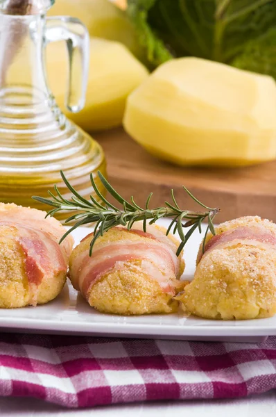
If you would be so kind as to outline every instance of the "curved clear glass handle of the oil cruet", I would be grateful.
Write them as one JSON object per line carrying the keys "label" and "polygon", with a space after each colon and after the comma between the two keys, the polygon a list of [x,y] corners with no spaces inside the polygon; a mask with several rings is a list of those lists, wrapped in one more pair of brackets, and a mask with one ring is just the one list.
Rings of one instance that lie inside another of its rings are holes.
{"label": "curved clear glass handle of the oil cruet", "polygon": [[[85,106],[89,71],[89,34],[85,25],[75,17],[47,17],[45,43],[65,40],[69,54],[65,106],[77,113]],[[79,74],[79,75],[78,75]]]}

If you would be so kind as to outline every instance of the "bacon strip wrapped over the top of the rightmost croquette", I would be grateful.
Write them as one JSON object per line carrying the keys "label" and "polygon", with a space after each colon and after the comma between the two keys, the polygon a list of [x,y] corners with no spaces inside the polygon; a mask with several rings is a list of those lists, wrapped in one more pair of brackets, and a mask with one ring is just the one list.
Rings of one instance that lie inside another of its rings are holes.
{"label": "bacon strip wrapped over the top of the rightmost croquette", "polygon": [[[222,234],[213,236],[205,246],[205,253],[214,250],[216,247],[221,247],[226,243],[232,243],[234,240],[250,240],[250,243],[254,245],[256,242],[265,243],[268,245],[276,245],[276,237],[265,227],[250,226],[250,227],[237,227],[234,230],[224,231]],[[198,262],[202,258],[201,253],[198,256]]]}

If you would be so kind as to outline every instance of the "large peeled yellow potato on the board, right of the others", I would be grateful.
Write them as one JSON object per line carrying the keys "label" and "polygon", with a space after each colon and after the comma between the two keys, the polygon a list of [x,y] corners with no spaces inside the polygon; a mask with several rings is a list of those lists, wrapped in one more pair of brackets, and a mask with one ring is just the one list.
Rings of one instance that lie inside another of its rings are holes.
{"label": "large peeled yellow potato on the board, right of the others", "polygon": [[200,58],[161,65],[128,97],[124,126],[179,165],[250,165],[276,156],[276,83]]}

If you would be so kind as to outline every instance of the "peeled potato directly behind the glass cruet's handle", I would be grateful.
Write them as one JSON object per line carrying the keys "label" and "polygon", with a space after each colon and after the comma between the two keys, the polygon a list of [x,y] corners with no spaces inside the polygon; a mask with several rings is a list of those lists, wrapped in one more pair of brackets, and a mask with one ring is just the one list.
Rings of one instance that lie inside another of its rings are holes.
{"label": "peeled potato directly behind the glass cruet's handle", "polygon": [[[53,95],[62,111],[86,131],[119,126],[126,98],[148,71],[123,44],[93,38],[90,40],[90,69],[85,108],[69,113],[64,106],[67,88],[67,51],[63,42],[49,44],[47,74]],[[80,74],[74,74],[78,77]]]}

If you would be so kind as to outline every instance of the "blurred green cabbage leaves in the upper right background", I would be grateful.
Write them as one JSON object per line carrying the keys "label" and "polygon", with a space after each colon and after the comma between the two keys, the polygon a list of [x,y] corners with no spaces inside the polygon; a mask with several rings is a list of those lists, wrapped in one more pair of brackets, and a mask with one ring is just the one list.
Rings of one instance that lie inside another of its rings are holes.
{"label": "blurred green cabbage leaves in the upper right background", "polygon": [[275,74],[276,0],[128,0],[148,60],[198,56]]}

